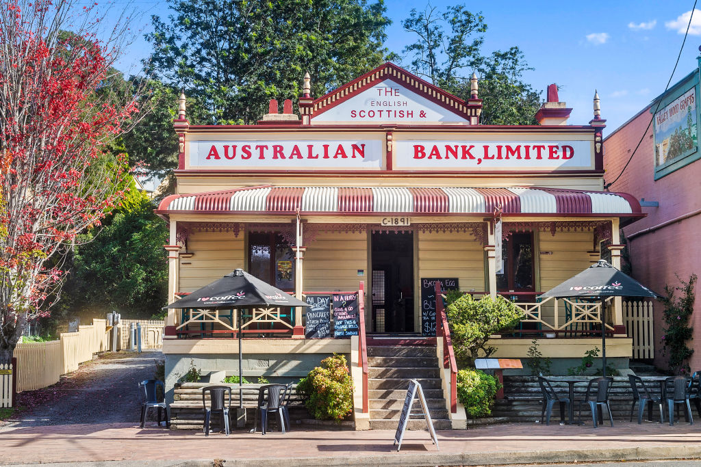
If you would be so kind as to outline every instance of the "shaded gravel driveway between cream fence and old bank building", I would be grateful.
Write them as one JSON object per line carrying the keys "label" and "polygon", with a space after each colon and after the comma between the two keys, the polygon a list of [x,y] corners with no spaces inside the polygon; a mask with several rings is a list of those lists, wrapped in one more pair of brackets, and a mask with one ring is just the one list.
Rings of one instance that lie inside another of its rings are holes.
{"label": "shaded gravel driveway between cream fence and old bank building", "polygon": [[18,405],[27,407],[2,428],[85,423],[138,422],[138,382],[152,379],[161,351],[142,354],[103,354],[84,363],[76,372],[39,391],[18,394]]}

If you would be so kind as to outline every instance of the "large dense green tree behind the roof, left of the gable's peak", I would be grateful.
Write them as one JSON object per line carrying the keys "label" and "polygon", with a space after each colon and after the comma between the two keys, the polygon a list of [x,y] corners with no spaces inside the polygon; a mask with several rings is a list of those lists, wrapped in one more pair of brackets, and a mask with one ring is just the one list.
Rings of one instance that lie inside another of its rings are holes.
{"label": "large dense green tree behind the roof, left of the gable's peak", "polygon": [[312,76],[322,95],[383,62],[382,0],[169,0],[154,16],[149,66],[198,97],[210,124],[251,124],[268,99],[299,97]]}

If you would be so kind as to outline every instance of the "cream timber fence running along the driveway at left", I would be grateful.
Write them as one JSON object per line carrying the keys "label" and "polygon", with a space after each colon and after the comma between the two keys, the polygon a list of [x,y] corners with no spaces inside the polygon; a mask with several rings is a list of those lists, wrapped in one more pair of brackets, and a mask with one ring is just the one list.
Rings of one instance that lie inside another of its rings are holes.
{"label": "cream timber fence running along the driveway at left", "polygon": [[[123,320],[118,328],[121,329],[118,343],[122,344],[122,350],[129,348],[129,336],[125,329],[132,321],[142,323],[142,349],[161,347],[163,321]],[[156,330],[158,326],[160,328]],[[93,354],[109,350],[109,329],[106,319],[93,319],[93,324],[79,326],[74,333],[61,333],[57,340],[17,344],[13,354],[17,358],[17,365],[13,368],[17,391],[42,389],[55,384],[61,375],[73,372],[81,363],[92,360]],[[125,336],[126,344],[123,344]],[[0,398],[4,394],[1,385],[0,381]]]}

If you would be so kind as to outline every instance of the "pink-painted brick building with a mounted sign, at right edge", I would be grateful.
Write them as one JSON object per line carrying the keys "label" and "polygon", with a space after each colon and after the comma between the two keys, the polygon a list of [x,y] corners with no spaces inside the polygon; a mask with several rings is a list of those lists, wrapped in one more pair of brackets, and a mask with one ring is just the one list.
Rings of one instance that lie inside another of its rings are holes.
{"label": "pink-painted brick building with a mounted sign, at right edge", "polygon": [[[701,250],[695,241],[701,228],[698,96],[699,69],[694,69],[604,140],[610,189],[643,200],[647,214],[624,229],[632,275],[658,293],[664,293],[667,285],[681,285],[677,276],[688,281],[699,272]],[[700,306],[696,293],[694,307]],[[657,301],[653,320],[654,362],[666,368],[665,324]],[[701,316],[693,314],[690,326],[700,336]],[[699,368],[701,354],[693,354],[689,363],[692,370]]]}

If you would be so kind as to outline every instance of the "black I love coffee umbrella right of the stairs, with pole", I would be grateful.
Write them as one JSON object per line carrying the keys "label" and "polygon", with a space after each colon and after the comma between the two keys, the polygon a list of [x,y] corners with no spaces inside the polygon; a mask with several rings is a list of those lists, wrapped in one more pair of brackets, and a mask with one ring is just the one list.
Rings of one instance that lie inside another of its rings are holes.
{"label": "black I love coffee umbrella right of the stairs, with pole", "polygon": [[602,375],[606,375],[605,310],[608,297],[660,297],[628,274],[620,272],[606,260],[599,260],[579,274],[554,286],[539,298],[590,298],[601,300],[601,360]]}

